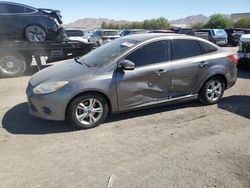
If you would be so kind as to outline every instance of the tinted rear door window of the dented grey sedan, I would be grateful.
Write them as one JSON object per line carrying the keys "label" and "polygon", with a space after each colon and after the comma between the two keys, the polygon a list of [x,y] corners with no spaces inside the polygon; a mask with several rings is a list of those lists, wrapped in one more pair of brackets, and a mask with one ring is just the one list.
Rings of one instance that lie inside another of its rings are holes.
{"label": "tinted rear door window of the dented grey sedan", "polygon": [[173,40],[174,57],[173,59],[182,59],[202,54],[200,45],[196,40],[177,39]]}

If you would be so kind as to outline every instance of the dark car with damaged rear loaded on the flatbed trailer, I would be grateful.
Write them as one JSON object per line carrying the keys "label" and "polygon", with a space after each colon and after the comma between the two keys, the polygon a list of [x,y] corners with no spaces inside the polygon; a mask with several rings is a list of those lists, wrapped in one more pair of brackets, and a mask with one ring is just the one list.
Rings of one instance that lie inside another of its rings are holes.
{"label": "dark car with damaged rear loaded on the flatbed trailer", "polygon": [[0,1],[0,40],[56,40],[63,33],[58,10]]}

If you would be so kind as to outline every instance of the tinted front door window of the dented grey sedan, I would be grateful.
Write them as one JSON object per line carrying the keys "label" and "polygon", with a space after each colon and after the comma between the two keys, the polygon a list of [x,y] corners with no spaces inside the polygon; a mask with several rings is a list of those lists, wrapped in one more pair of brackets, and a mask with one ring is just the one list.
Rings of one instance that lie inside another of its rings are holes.
{"label": "tinted front door window of the dented grey sedan", "polygon": [[169,46],[169,41],[153,42],[132,52],[126,59],[134,62],[136,66],[168,61],[170,59]]}

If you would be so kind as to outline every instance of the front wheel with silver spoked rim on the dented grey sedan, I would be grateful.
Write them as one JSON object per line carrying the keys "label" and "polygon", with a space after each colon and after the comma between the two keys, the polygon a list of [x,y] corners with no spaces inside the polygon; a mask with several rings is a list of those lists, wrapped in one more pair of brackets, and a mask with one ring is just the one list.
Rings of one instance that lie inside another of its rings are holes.
{"label": "front wheel with silver spoked rim on the dented grey sedan", "polygon": [[73,99],[68,108],[72,125],[90,129],[100,125],[108,115],[106,99],[99,94],[87,94]]}

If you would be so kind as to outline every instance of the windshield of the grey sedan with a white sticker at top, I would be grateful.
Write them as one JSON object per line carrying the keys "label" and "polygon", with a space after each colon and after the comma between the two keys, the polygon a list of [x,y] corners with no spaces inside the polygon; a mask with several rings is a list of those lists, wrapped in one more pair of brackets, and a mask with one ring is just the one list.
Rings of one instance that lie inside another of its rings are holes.
{"label": "windshield of the grey sedan with a white sticker at top", "polygon": [[111,41],[79,59],[79,62],[89,66],[100,66],[107,64],[122,55],[129,48],[140,41],[126,38],[119,38]]}

